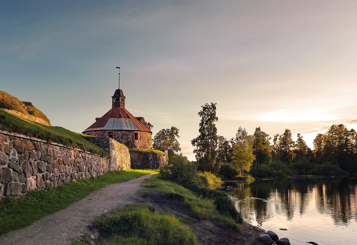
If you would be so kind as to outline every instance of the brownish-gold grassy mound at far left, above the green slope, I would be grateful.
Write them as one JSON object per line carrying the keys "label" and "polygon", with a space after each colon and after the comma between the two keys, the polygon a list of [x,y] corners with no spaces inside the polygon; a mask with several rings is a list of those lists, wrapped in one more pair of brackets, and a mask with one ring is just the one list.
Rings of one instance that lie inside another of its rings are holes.
{"label": "brownish-gold grassy mound at far left, above the green slope", "polygon": [[31,108],[31,110],[26,111],[21,107],[21,104],[22,102],[16,97],[7,94],[4,91],[0,91],[0,108],[14,110],[32,116],[37,116],[44,119],[46,122],[50,123],[50,120],[47,118],[47,116],[43,114],[42,111],[37,109],[35,106]]}

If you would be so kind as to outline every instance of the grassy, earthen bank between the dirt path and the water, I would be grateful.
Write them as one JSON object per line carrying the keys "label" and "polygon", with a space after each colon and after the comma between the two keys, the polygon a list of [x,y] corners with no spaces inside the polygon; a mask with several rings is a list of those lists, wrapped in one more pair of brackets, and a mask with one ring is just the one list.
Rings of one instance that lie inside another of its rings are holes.
{"label": "grassy, earthen bank between the dirt path and the water", "polygon": [[[245,222],[237,224],[228,213],[220,213],[216,209],[215,203],[210,199],[202,199],[182,186],[159,179],[158,176],[145,180],[142,186],[145,189],[139,190],[141,198],[135,200],[137,204],[131,205],[135,207],[138,204],[145,204],[151,207],[146,207],[146,210],[142,210],[142,207],[139,209],[124,207],[104,214],[95,221],[90,236],[81,238],[80,242],[72,245],[134,245],[143,244],[143,242],[145,242],[144,244],[181,244],[178,240],[173,243],[171,233],[167,234],[166,238],[162,238],[160,235],[166,234],[167,229],[162,228],[162,224],[155,222],[161,220],[163,215],[171,217],[165,216],[165,219],[178,219],[180,224],[177,226],[179,228],[171,228],[174,229],[172,233],[175,233],[176,229],[180,232],[182,227],[189,229],[180,236],[181,240],[190,241],[185,244],[263,244],[259,235],[265,233],[264,230]],[[130,213],[127,212],[128,209],[131,210]],[[124,212],[127,213],[122,215]],[[118,226],[118,229],[115,226]],[[171,227],[172,224],[169,222],[167,226]],[[145,234],[141,231],[145,231]],[[192,234],[195,238],[193,240]],[[121,243],[118,243],[117,240],[113,243],[113,239],[118,236],[121,238],[119,239]]]}

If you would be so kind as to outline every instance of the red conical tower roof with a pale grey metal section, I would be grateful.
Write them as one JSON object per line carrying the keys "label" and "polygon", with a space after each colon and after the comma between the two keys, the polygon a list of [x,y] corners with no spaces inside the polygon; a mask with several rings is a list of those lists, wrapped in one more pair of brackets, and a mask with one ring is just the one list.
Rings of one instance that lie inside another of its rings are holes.
{"label": "red conical tower roof with a pale grey metal section", "polygon": [[113,107],[104,116],[89,126],[83,133],[93,130],[134,130],[151,132],[124,107]]}

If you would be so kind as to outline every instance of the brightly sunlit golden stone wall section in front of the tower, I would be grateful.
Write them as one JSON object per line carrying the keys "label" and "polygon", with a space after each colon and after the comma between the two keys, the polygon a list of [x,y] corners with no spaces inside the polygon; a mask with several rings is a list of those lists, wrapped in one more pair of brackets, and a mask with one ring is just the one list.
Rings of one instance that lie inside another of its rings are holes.
{"label": "brightly sunlit golden stone wall section in front of the tower", "polygon": [[129,149],[114,139],[109,139],[110,165],[113,170],[130,169]]}

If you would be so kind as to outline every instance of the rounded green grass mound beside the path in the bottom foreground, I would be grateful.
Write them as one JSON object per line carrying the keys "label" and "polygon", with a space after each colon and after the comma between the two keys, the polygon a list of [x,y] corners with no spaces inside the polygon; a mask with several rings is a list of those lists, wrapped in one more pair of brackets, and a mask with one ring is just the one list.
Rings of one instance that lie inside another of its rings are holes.
{"label": "rounded green grass mound beside the path in the bottom foreground", "polygon": [[172,215],[153,213],[154,206],[129,204],[102,215],[96,222],[102,234],[146,240],[149,245],[197,244],[191,229]]}

